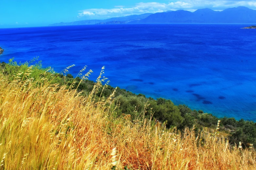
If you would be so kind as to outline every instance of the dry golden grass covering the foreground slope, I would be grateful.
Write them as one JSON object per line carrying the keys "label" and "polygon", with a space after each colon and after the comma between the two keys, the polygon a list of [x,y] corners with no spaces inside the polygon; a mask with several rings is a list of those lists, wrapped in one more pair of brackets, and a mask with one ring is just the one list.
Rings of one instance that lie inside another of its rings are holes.
{"label": "dry golden grass covering the foreground slope", "polygon": [[209,133],[197,137],[129,115],[115,118],[106,106],[111,98],[94,102],[93,93],[83,98],[58,84],[33,83],[0,74],[1,170],[110,169],[111,163],[116,169],[255,169],[254,153],[230,149]]}

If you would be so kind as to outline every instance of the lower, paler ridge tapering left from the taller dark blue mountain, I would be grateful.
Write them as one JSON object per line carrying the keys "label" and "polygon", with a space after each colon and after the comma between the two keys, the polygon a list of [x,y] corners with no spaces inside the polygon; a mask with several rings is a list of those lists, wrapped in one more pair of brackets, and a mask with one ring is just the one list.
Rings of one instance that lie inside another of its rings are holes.
{"label": "lower, paler ridge tapering left from the taller dark blue mountain", "polygon": [[64,25],[90,25],[90,24],[96,24],[100,22],[110,22],[110,21],[139,21],[141,19],[144,19],[151,15],[152,13],[145,13],[141,15],[129,15],[125,17],[115,17],[115,18],[109,18],[106,20],[82,20],[82,21],[74,21],[74,22],[60,22],[55,24],[50,24],[49,26],[64,26]]}

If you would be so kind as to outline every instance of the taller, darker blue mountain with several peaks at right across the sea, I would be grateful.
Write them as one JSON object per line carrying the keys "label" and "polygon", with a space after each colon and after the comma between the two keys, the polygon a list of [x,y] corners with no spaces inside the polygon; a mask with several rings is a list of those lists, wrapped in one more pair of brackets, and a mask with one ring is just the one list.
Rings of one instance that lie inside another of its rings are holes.
{"label": "taller, darker blue mountain with several peaks at right across the sea", "polygon": [[247,7],[228,8],[223,11],[208,8],[195,12],[177,10],[155,13],[131,23],[256,23],[256,10]]}

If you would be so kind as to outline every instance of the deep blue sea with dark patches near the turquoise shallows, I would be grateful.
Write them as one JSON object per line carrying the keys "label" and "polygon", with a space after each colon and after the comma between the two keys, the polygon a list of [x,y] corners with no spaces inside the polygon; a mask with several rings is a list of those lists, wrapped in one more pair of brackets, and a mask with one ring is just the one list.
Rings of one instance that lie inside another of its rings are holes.
{"label": "deep blue sea with dark patches near the turquoise shallows", "polygon": [[60,72],[171,99],[218,117],[256,121],[256,29],[248,24],[124,24],[0,29],[0,61],[39,56]]}

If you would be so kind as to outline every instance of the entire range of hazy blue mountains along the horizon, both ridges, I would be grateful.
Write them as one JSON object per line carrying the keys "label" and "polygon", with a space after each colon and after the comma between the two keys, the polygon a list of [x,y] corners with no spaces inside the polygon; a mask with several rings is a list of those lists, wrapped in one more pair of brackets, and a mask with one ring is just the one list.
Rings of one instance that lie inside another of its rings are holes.
{"label": "entire range of hazy blue mountains along the horizon, both ridges", "polygon": [[256,10],[247,7],[228,8],[223,11],[213,11],[209,8],[198,9],[195,12],[177,10],[155,14],[130,15],[106,20],[61,22],[50,24],[49,26],[125,23],[256,23]]}

